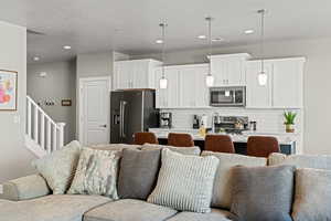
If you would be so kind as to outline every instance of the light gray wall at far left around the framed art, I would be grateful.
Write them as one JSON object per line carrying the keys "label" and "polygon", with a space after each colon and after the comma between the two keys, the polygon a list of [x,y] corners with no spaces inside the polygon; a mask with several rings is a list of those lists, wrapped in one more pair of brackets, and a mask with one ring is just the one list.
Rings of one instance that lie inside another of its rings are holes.
{"label": "light gray wall at far left around the framed art", "polygon": [[[33,173],[34,156],[24,147],[26,30],[0,21],[0,69],[19,73],[18,110],[0,112],[0,182]],[[14,117],[20,123],[14,123]]]}

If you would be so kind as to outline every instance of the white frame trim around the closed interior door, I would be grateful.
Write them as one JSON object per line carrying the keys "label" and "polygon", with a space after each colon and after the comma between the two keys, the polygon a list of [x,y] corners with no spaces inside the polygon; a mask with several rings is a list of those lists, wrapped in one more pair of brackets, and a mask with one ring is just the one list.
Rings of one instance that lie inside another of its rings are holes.
{"label": "white frame trim around the closed interior door", "polygon": [[110,76],[99,76],[99,77],[81,77],[79,78],[79,83],[78,83],[78,104],[77,104],[77,134],[78,134],[78,141],[81,144],[83,144],[83,135],[84,135],[84,125],[83,125],[83,113],[84,113],[84,108],[83,108],[83,84],[87,83],[87,82],[94,82],[94,81],[106,81],[107,82],[107,85],[108,85],[108,88],[107,88],[107,92],[108,92],[108,97],[109,99],[107,99],[107,122],[109,124],[108,126],[108,143],[110,143],[110,92],[111,92],[111,77]]}

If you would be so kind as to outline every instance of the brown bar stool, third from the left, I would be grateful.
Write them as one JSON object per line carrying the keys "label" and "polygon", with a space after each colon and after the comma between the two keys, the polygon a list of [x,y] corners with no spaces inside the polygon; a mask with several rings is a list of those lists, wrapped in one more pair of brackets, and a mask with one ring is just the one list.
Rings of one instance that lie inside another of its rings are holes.
{"label": "brown bar stool, third from the left", "polygon": [[204,150],[235,154],[235,148],[232,138],[228,135],[205,136]]}

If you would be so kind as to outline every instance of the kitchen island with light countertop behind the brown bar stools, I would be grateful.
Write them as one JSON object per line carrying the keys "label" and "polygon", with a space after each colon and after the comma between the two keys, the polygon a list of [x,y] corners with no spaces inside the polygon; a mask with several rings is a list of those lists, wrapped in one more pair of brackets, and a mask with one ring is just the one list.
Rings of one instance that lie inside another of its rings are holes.
{"label": "kitchen island with light countertop behind the brown bar stools", "polygon": [[[199,135],[197,129],[186,129],[186,128],[150,128],[149,131],[156,134],[161,145],[168,144],[169,133],[185,133],[191,134],[194,139],[194,145],[199,146],[204,150],[204,137]],[[286,155],[293,155],[297,152],[296,144],[298,139],[297,134],[288,133],[263,133],[263,131],[244,131],[243,134],[227,134],[231,136],[236,154],[246,155],[247,152],[247,140],[249,136],[273,136],[278,139],[280,151]]]}

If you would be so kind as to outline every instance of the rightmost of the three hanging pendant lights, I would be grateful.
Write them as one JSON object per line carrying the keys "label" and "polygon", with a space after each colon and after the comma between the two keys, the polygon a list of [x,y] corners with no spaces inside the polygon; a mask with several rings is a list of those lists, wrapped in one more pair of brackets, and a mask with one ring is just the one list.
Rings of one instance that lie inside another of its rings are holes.
{"label": "rightmost of the three hanging pendant lights", "polygon": [[260,9],[257,11],[260,14],[260,72],[258,73],[258,84],[264,86],[267,84],[268,75],[265,72],[265,14],[266,10]]}

